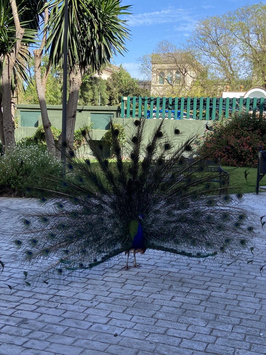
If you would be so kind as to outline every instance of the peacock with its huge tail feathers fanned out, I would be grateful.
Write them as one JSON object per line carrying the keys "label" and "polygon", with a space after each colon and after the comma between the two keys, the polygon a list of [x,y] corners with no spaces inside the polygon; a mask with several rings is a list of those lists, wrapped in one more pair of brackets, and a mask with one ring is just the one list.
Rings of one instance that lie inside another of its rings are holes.
{"label": "peacock with its huge tail feathers fanned out", "polygon": [[226,176],[206,172],[206,157],[191,159],[195,137],[181,143],[177,126],[167,134],[162,119],[145,141],[146,121],[130,121],[123,146],[111,119],[112,158],[104,157],[92,131],[82,129],[90,155],[79,158],[70,150],[62,176],[46,174],[41,185],[27,189],[38,191],[49,208],[24,215],[23,231],[12,241],[17,261],[27,268],[24,278],[48,283],[121,253],[128,270],[130,252],[139,267],[136,253],[146,249],[198,260],[254,249],[252,215],[241,207],[242,194],[221,190],[226,185],[230,192]]}

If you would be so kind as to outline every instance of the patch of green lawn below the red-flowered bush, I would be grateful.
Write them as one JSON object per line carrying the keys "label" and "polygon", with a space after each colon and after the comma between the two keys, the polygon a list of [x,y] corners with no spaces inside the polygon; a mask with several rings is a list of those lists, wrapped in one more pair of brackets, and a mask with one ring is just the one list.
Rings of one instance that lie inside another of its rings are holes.
{"label": "patch of green lawn below the red-flowered bush", "polygon": [[[230,174],[230,187],[238,187],[239,189],[228,190],[229,193],[242,193],[255,192],[257,180],[257,168],[234,168],[232,166],[223,166],[224,170]],[[244,172],[249,173],[247,181],[245,180]],[[261,179],[260,186],[266,186],[266,175]]]}

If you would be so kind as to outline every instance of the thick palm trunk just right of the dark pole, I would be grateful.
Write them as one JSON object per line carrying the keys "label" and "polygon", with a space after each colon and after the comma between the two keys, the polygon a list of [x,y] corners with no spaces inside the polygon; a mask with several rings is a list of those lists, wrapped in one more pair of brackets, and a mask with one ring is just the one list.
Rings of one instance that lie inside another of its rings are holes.
{"label": "thick palm trunk just right of the dark pole", "polygon": [[[77,105],[79,88],[82,82],[82,75],[84,70],[81,68],[72,69],[69,74],[69,95],[67,101],[67,129],[66,129],[66,143],[67,147],[73,149],[74,145],[74,131],[77,115]],[[62,133],[59,137],[59,146],[62,145]]]}

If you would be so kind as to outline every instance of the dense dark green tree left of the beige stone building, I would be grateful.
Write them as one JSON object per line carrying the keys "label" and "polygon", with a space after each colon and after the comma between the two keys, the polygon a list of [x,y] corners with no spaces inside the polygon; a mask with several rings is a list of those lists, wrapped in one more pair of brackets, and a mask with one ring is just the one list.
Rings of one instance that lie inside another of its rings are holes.
{"label": "dense dark green tree left of the beige stone building", "polygon": [[109,97],[108,105],[119,105],[121,96],[150,96],[150,91],[141,89],[138,80],[122,67],[118,71],[113,71],[110,78],[106,81],[106,92]]}

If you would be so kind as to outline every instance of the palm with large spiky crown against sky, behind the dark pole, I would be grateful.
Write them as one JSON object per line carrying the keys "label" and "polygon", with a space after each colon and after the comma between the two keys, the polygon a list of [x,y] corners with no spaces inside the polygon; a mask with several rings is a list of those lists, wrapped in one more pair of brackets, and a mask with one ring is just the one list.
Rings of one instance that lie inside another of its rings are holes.
{"label": "palm with large spiky crown against sky, behind the dark pole", "polygon": [[[62,62],[64,2],[56,0],[48,5],[46,48],[50,49],[52,66]],[[88,67],[97,71],[110,62],[116,53],[126,51],[129,38],[126,20],[131,6],[121,6],[121,0],[68,0],[68,72],[67,145],[73,148],[74,127],[82,76]],[[61,142],[61,136],[59,138]]]}

